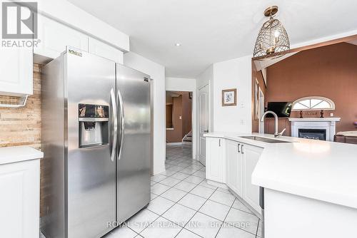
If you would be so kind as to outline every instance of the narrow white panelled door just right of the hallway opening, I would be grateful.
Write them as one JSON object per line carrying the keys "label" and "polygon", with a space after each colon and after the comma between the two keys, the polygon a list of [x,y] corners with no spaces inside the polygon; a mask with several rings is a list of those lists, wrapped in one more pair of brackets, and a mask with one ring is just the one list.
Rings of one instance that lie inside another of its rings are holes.
{"label": "narrow white panelled door just right of the hallway opening", "polygon": [[209,130],[209,85],[207,84],[198,92],[198,160],[206,165],[206,138],[204,133]]}

